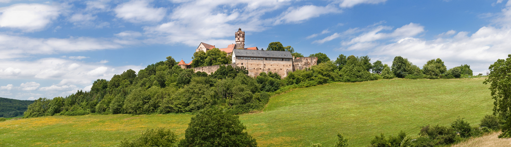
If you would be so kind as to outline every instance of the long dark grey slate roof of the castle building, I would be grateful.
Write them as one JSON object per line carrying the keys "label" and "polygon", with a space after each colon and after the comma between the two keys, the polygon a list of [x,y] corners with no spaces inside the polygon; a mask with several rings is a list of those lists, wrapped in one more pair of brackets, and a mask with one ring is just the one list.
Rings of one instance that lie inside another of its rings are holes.
{"label": "long dark grey slate roof of the castle building", "polygon": [[263,58],[293,58],[291,52],[287,51],[263,51],[234,49],[233,53],[240,57],[263,57]]}

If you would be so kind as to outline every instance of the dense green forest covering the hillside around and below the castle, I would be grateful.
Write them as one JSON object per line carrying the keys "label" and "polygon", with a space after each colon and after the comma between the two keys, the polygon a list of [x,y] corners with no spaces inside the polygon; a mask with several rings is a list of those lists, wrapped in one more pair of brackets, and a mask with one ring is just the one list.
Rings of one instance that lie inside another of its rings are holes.
{"label": "dense green forest covering the hillside around and below the castle", "polygon": [[[206,55],[221,53],[215,51],[208,50]],[[166,61],[148,65],[138,72],[128,69],[110,80],[98,79],[90,91],[80,90],[53,99],[40,98],[28,107],[24,117],[194,113],[211,106],[231,114],[242,114],[261,111],[271,95],[318,84],[392,78],[453,79],[473,74],[469,65],[447,69],[440,59],[428,61],[421,69],[401,56],[394,58],[391,66],[381,61],[371,63],[368,56],[339,55],[336,60],[330,60],[327,55],[317,53],[310,57],[318,57],[318,65],[282,78],[272,72],[249,77],[243,66],[221,66],[208,75],[182,69],[169,56]]]}

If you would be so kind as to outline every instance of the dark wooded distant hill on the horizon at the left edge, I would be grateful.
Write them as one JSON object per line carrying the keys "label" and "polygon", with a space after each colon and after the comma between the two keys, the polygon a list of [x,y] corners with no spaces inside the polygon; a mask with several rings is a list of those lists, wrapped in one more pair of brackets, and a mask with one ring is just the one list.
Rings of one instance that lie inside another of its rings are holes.
{"label": "dark wooded distant hill on the horizon at the left edge", "polygon": [[0,117],[9,118],[21,116],[27,107],[34,103],[34,101],[28,100],[14,100],[0,97]]}

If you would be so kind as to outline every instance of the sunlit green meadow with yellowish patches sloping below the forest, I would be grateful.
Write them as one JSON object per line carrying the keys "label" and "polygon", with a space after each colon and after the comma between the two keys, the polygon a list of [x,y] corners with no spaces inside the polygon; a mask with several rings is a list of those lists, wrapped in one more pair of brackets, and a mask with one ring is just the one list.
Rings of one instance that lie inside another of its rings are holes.
{"label": "sunlit green meadow with yellowish patches sloping below the forest", "polygon": [[[424,125],[449,125],[457,116],[473,126],[492,113],[484,79],[392,79],[335,83],[273,96],[261,113],[240,115],[259,146],[333,146],[336,134],[366,146],[380,133],[409,135]],[[147,128],[184,137],[190,114],[50,116],[0,122],[0,146],[111,146]]]}

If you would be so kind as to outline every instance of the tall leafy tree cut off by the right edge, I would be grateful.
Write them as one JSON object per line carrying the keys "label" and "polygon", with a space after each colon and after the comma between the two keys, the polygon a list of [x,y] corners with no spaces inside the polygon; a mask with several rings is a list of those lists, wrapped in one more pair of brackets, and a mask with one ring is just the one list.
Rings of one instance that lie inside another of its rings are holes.
{"label": "tall leafy tree cut off by the right edge", "polygon": [[490,84],[492,98],[495,100],[493,114],[506,119],[502,126],[501,137],[511,137],[511,54],[507,55],[507,59],[499,59],[490,65],[490,75],[484,84]]}

